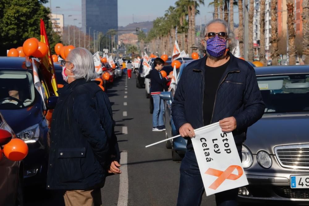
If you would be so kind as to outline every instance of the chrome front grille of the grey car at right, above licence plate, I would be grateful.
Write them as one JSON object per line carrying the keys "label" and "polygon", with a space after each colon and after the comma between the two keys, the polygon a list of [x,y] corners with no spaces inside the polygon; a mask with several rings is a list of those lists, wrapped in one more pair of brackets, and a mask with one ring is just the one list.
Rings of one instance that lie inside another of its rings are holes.
{"label": "chrome front grille of the grey car at right, above licence plate", "polygon": [[309,144],[278,146],[275,147],[275,154],[283,167],[309,168]]}

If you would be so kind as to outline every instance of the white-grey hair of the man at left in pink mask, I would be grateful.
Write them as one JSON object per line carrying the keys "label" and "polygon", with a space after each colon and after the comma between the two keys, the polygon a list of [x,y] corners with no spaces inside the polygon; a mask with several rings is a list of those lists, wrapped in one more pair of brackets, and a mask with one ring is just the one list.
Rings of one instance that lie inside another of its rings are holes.
{"label": "white-grey hair of the man at left in pink mask", "polygon": [[97,78],[92,54],[87,49],[78,47],[71,50],[66,60],[74,64],[72,72],[75,79],[90,81]]}

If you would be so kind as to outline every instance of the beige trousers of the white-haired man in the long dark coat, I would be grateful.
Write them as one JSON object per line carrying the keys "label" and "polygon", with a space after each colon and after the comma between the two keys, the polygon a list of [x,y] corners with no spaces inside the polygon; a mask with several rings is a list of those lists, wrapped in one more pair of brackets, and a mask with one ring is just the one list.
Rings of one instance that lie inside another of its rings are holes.
{"label": "beige trousers of the white-haired man in the long dark coat", "polygon": [[102,206],[101,189],[69,190],[63,195],[66,206]]}

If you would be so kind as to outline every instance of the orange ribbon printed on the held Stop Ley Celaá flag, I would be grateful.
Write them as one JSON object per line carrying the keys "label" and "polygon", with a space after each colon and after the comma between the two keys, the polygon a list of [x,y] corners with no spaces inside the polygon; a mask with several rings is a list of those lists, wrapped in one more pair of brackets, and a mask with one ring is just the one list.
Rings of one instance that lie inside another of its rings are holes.
{"label": "orange ribbon printed on the held Stop Ley Cela\u00e1 flag", "polygon": [[[237,174],[232,174],[232,172],[237,169]],[[213,168],[209,168],[205,174],[213,175],[218,177],[208,188],[216,190],[226,179],[229,180],[236,180],[240,178],[243,175],[243,169],[242,167],[238,165],[231,165],[229,166],[225,171],[216,170]]]}

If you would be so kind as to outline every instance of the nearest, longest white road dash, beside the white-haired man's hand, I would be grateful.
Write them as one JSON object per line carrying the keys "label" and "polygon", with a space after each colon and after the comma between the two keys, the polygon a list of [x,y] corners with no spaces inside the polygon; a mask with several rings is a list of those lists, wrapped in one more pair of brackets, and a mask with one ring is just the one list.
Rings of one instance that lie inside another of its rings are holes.
{"label": "nearest, longest white road dash, beside the white-haired man's hand", "polygon": [[129,179],[128,179],[128,152],[122,151],[120,153],[120,170],[121,174],[119,177],[119,195],[118,195],[118,206],[128,205],[128,195],[129,195]]}

